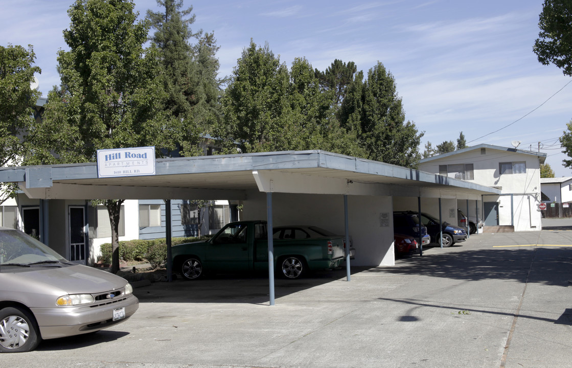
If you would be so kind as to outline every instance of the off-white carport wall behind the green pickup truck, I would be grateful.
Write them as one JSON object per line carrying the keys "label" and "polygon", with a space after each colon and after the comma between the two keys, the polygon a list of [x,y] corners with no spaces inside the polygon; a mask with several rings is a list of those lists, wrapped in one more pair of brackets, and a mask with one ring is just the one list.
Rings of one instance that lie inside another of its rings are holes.
{"label": "off-white carport wall behind the green pickup truck", "polygon": [[[344,235],[344,198],[341,195],[273,193],[273,224],[315,225]],[[348,196],[349,235],[356,248],[355,266],[392,266],[392,200],[386,196]],[[266,193],[251,192],[240,214],[242,220],[265,220]],[[386,221],[387,220],[387,221]]]}

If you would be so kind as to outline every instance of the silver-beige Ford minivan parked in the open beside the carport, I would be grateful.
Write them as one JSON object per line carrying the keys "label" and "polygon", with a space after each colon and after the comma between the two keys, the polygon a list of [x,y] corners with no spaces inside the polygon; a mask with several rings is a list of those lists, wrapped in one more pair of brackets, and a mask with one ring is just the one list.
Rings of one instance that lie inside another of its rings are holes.
{"label": "silver-beige Ford minivan parked in the open beside the carport", "polygon": [[123,278],[70,263],[21,231],[0,227],[0,352],[121,323],[139,307]]}

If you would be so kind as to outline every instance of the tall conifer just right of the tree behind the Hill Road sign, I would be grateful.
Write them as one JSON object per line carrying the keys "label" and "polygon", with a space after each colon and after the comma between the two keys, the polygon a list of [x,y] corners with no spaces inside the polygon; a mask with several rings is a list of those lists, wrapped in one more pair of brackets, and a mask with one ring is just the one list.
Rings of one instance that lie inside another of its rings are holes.
{"label": "tall conifer just right of the tree behind the Hill Road sign", "polygon": [[[221,117],[219,61],[212,33],[191,30],[193,7],[181,10],[182,0],[157,0],[164,13],[147,11],[155,29],[150,40],[157,46],[168,97],[168,116],[181,121],[184,156],[200,155],[201,134]],[[194,40],[194,44],[190,43]]]}

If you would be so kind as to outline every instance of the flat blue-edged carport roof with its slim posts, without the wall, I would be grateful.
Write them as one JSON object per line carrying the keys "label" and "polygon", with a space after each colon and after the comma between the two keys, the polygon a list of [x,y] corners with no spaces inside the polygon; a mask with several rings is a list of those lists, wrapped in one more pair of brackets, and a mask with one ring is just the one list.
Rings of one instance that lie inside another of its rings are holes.
{"label": "flat blue-edged carport roof with its slim posts, without the wall", "polygon": [[[249,191],[258,190],[267,193],[269,227],[273,192],[338,194],[344,196],[347,242],[347,196],[478,199],[483,194],[500,193],[467,181],[325,151],[158,159],[155,172],[149,176],[100,178],[96,163],[8,167],[0,168],[0,182],[19,183],[30,199],[244,200]],[[169,244],[170,219],[166,231]],[[272,232],[268,233],[269,295],[273,305],[273,239]],[[170,271],[170,248],[167,259]],[[347,274],[349,281],[349,252]]]}

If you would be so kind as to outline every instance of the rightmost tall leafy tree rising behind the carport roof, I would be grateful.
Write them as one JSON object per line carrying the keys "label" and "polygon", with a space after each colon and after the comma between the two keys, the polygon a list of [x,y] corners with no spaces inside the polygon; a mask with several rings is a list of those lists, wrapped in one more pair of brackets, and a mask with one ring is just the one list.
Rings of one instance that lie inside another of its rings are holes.
{"label": "rightmost tall leafy tree rising behind the carport roof", "polygon": [[405,121],[402,99],[395,78],[381,62],[367,74],[365,83],[356,78],[342,102],[340,125],[357,131],[368,159],[416,167],[423,133],[415,123]]}

